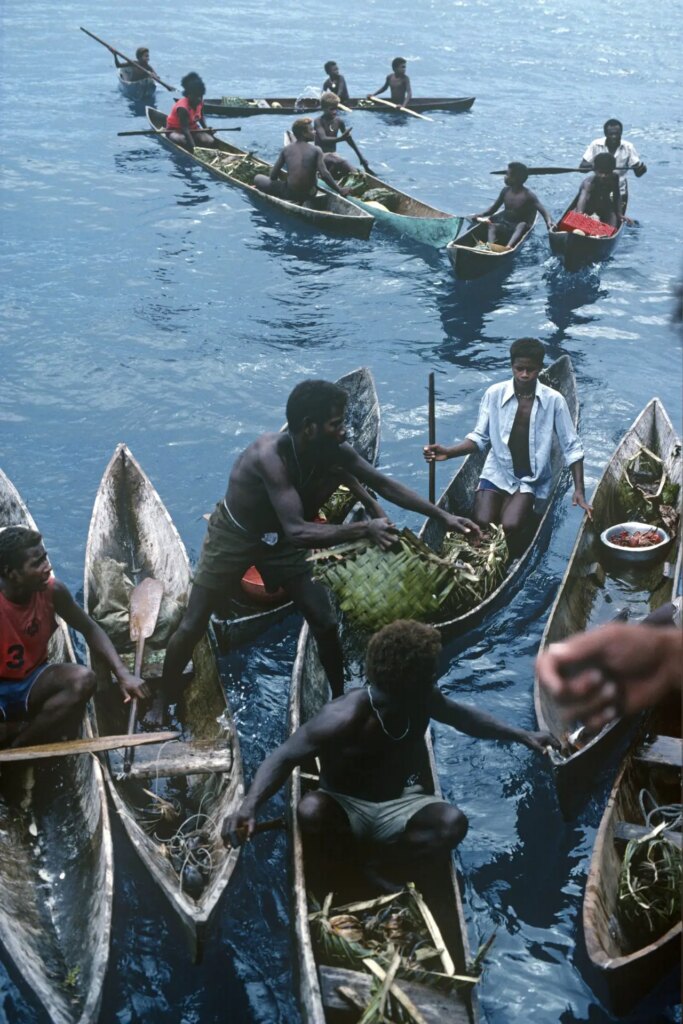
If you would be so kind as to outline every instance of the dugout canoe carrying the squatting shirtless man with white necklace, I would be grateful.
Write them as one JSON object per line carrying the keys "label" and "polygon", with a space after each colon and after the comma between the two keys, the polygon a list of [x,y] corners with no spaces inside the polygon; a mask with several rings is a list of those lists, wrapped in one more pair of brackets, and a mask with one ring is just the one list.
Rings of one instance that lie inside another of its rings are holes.
{"label": "dugout canoe carrying the squatting shirtless man with white necklace", "polygon": [[[330,699],[330,686],[317,656],[317,648],[308,625],[304,623],[299,636],[292,674],[289,706],[290,735],[312,718]],[[426,793],[440,796],[429,730],[425,734],[419,781]],[[364,1002],[370,995],[370,976],[355,970],[331,967],[322,963],[311,935],[309,895],[322,905],[328,893],[335,893],[335,903],[356,899],[373,899],[381,895],[369,891],[368,882],[350,879],[340,862],[340,870],[326,873],[315,860],[315,850],[304,842],[296,809],[301,797],[317,787],[313,771],[295,768],[289,783],[290,858],[293,899],[293,926],[296,942],[295,974],[299,992],[299,1010],[304,1024],[343,1024],[357,1021],[358,1011],[349,1013],[349,1005],[339,994],[339,986],[355,991]],[[334,877],[333,877],[334,876]],[[311,888],[324,879],[322,889]],[[420,882],[420,885],[423,883]],[[355,887],[358,887],[357,889]],[[324,890],[324,891],[323,891]],[[452,856],[430,865],[429,892],[422,889],[428,906],[436,919],[443,937],[447,959],[443,970],[450,974],[468,975],[469,946],[460,888]],[[342,896],[343,894],[343,896]],[[476,1024],[478,1000],[475,987],[465,986],[449,995],[422,984],[398,982],[405,994],[423,1015],[426,1024]]]}

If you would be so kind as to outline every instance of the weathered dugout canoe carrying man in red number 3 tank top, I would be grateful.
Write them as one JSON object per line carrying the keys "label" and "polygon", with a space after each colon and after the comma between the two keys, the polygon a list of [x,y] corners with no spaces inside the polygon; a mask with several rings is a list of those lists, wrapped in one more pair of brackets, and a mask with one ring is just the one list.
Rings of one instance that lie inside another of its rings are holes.
{"label": "weathered dugout canoe carrying man in red number 3 tank top", "polygon": [[[0,527],[36,528],[0,470]],[[49,659],[75,663],[61,620]],[[84,734],[90,735],[87,719]],[[53,1024],[97,1019],[112,926],[114,862],[96,758],[5,764],[0,775],[0,942]]]}

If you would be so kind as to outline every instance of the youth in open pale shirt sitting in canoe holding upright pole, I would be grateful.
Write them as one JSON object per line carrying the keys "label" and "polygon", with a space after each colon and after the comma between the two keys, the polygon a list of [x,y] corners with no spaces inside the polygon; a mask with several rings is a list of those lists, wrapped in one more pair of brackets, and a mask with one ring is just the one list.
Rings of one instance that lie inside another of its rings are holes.
{"label": "youth in open pale shirt sitting in canoe holding upright pole", "polygon": [[539,380],[543,358],[544,347],[537,338],[514,341],[510,346],[512,380],[484,392],[474,430],[452,447],[427,444],[424,449],[427,462],[442,462],[490,445],[474,496],[474,519],[482,528],[502,523],[513,557],[526,547],[536,500],[542,502],[550,493],[553,434],[573,477],[571,504],[589,517],[593,512],[584,493],[584,447],[566,401]]}

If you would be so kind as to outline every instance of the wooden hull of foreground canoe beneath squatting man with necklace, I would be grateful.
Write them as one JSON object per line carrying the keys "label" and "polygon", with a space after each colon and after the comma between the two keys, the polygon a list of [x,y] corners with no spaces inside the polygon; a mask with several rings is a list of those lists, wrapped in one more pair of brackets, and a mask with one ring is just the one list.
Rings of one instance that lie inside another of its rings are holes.
{"label": "wooden hull of foreground canoe beneath squatting man with necklace", "polygon": [[[290,691],[290,707],[288,730],[291,735],[299,726],[312,718],[330,699],[330,687],[327,676],[317,657],[315,642],[311,637],[308,625],[304,623],[292,673]],[[425,736],[424,763],[421,768],[420,781],[425,792],[440,796],[438,776],[434,763],[433,751],[429,732]],[[312,865],[310,851],[307,851],[299,828],[296,809],[302,796],[302,776],[297,768],[293,772],[289,785],[290,813],[290,857],[293,900],[293,928],[297,946],[296,977],[299,990],[299,1010],[304,1024],[332,1024],[346,1020],[345,1016],[336,1016],[335,987],[333,977],[335,972],[324,965],[318,965],[308,923],[307,882]],[[310,784],[307,780],[306,784]],[[455,872],[453,857],[444,857],[434,865],[433,886],[439,894],[439,900],[430,903],[430,908],[437,919],[437,924],[455,964],[456,974],[468,973],[469,946],[467,928],[463,913],[462,899]],[[335,880],[330,881],[328,892],[335,890]],[[338,890],[337,890],[338,891]],[[315,894],[321,896],[319,893]],[[379,895],[379,894],[378,894]],[[323,894],[324,898],[325,894]],[[364,893],[361,898],[367,898]],[[335,969],[336,970],[336,969]],[[344,979],[351,987],[357,985],[362,991],[367,976],[349,971]],[[358,981],[356,981],[358,979]],[[417,992],[412,992],[419,1010],[424,1011],[429,1024],[439,1020],[449,1024],[476,1024],[478,1021],[478,1000],[476,991],[464,989],[447,997],[447,1011],[443,1004],[432,995],[430,989],[416,986]],[[440,999],[443,999],[442,994]],[[437,1016],[437,1012],[440,1014]],[[356,1020],[356,1017],[349,1018]]]}

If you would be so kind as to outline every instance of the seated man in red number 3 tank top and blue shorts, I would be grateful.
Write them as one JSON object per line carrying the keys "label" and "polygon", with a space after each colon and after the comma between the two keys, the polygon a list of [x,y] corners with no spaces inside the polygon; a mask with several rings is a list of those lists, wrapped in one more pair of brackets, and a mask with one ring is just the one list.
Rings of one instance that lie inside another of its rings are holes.
{"label": "seated man in red number 3 tank top and blue shorts", "polygon": [[29,746],[76,734],[95,674],[82,665],[50,665],[55,614],[79,633],[117,677],[126,700],[146,696],[102,629],[52,575],[41,535],[28,526],[0,530],[0,746]]}

